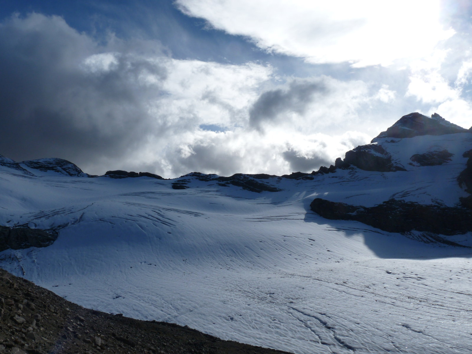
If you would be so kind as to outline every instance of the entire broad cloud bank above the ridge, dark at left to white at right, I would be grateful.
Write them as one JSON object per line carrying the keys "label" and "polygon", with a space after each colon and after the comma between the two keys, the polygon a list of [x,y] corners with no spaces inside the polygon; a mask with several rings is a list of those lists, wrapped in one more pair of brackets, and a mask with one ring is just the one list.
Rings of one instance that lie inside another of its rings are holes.
{"label": "entire broad cloud bank above the ridge, dark at left to white at right", "polygon": [[0,24],[0,66],[0,153],[92,174],[311,172],[385,130],[379,111],[398,97],[263,63],[173,59],[157,41],[97,42],[41,14]]}

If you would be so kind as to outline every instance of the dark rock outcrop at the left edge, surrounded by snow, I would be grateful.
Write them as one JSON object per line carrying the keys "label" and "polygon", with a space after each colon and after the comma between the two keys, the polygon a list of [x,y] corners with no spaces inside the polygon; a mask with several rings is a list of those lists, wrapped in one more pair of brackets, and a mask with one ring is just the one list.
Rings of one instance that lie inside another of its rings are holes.
{"label": "dark rock outcrop at the left edge, surrounded by snow", "polygon": [[46,247],[58,238],[57,231],[39,228],[0,226],[0,252],[11,248]]}

